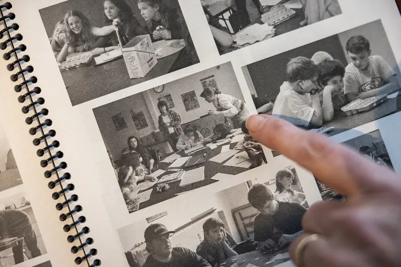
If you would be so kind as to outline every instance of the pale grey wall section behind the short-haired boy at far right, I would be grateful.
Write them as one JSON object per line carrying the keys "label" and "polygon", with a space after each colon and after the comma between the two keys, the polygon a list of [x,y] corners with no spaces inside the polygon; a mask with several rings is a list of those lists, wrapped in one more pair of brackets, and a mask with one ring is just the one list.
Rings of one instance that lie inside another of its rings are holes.
{"label": "pale grey wall section behind the short-haired boy at far right", "polygon": [[[395,60],[394,53],[392,52],[390,43],[388,42],[381,20],[375,20],[359,27],[338,33],[338,38],[342,44],[344,54],[347,54],[345,49],[347,40],[354,35],[362,35],[368,39],[372,54],[381,55],[397,74],[398,81],[401,82],[401,74],[399,72],[397,61]],[[349,63],[350,60],[348,56],[347,60]]]}

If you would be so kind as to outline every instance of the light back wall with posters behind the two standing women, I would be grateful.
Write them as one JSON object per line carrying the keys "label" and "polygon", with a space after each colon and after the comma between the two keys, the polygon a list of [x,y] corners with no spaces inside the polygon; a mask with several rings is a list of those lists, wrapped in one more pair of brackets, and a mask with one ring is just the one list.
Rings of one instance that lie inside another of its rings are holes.
{"label": "light back wall with posters behind the two standing women", "polygon": [[[199,96],[203,91],[200,79],[211,75],[215,75],[217,84],[222,93],[231,94],[239,99],[244,100],[244,96],[242,95],[233,66],[230,62],[227,62],[222,65],[215,66],[166,83],[164,85],[164,90],[160,93],[155,92],[153,89],[143,92],[145,99],[147,100],[149,110],[154,113],[152,118],[155,125],[158,125],[157,119],[158,115],[160,114],[157,108],[157,98],[166,94],[171,94],[175,105],[172,110],[180,115],[182,124],[198,119],[200,116],[207,114],[208,110],[210,109],[215,110],[216,108],[212,103],[208,103],[204,98]],[[181,94],[192,90],[194,90],[196,93],[200,107],[186,111]]]}

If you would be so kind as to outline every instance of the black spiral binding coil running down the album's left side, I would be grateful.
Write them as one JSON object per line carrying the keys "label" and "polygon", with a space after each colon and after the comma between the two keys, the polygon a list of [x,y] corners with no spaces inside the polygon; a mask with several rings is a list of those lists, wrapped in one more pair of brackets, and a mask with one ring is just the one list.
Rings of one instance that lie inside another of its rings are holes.
{"label": "black spiral binding coil running down the album's left side", "polygon": [[[25,122],[27,124],[32,124],[34,123],[34,121],[37,121],[37,125],[31,127],[29,129],[29,133],[31,135],[35,135],[37,132],[40,132],[41,134],[40,137],[37,137],[33,140],[34,145],[38,146],[42,142],[45,144],[45,147],[37,150],[37,155],[44,156],[46,153],[49,155],[48,158],[42,159],[40,161],[40,164],[42,167],[46,167],[49,164],[53,166],[52,169],[46,170],[44,172],[44,176],[46,178],[51,178],[53,175],[57,177],[55,180],[49,181],[48,186],[51,189],[54,189],[56,186],[60,186],[61,188],[59,191],[53,192],[52,198],[59,199],[61,197],[64,197],[65,199],[65,201],[56,204],[57,210],[62,210],[63,208],[68,209],[67,213],[60,214],[60,221],[65,221],[68,218],[71,218],[73,221],[71,224],[65,224],[63,229],[66,232],[69,232],[71,229],[75,229],[77,231],[77,234],[75,235],[68,235],[67,241],[69,243],[72,243],[75,240],[79,240],[80,245],[72,246],[71,252],[75,254],[78,251],[82,250],[85,255],[82,257],[76,257],[74,261],[76,264],[81,264],[82,262],[85,261],[89,265],[90,264],[89,257],[95,256],[97,254],[97,249],[91,248],[89,252],[85,251],[85,247],[92,245],[94,240],[91,237],[87,237],[85,241],[82,241],[81,239],[82,235],[89,233],[90,231],[89,227],[84,226],[81,231],[78,231],[77,225],[85,223],[86,217],[79,216],[77,219],[74,218],[74,215],[83,210],[81,205],[76,205],[73,209],[70,208],[72,202],[78,200],[78,195],[72,194],[70,198],[67,199],[66,192],[73,191],[75,186],[73,183],[69,183],[67,184],[67,186],[63,186],[62,182],[65,182],[71,178],[71,174],[69,172],[64,172],[62,176],[59,175],[59,171],[67,168],[67,163],[62,161],[59,163],[59,165],[56,165],[56,160],[61,159],[64,156],[64,153],[60,150],[55,153],[52,152],[53,149],[60,146],[59,141],[57,140],[54,140],[52,142],[48,141],[48,139],[56,135],[56,131],[50,129],[45,133],[46,128],[51,126],[53,122],[51,119],[46,118],[49,114],[49,110],[47,108],[43,108],[40,111],[38,111],[37,109],[39,105],[42,105],[45,102],[45,99],[43,97],[38,97],[34,100],[34,96],[40,94],[42,89],[40,87],[34,87],[32,90],[29,89],[30,85],[37,83],[38,78],[36,76],[31,76],[29,78],[26,78],[25,75],[28,73],[32,73],[34,71],[34,67],[28,65],[23,69],[21,66],[23,62],[29,62],[30,57],[29,55],[22,55],[22,56],[20,55],[27,49],[27,46],[25,44],[19,44],[18,46],[14,45],[15,42],[21,41],[23,39],[23,35],[20,33],[16,33],[13,36],[11,35],[13,31],[16,32],[20,28],[20,26],[17,23],[12,23],[11,25],[7,25],[7,21],[13,20],[16,17],[16,15],[13,12],[8,12],[7,14],[4,14],[3,10],[8,10],[11,9],[12,7],[13,5],[10,2],[6,2],[0,5],[0,22],[3,22],[4,24],[4,28],[0,30],[0,40],[3,37],[7,38],[6,40],[0,42],[0,49],[5,50],[7,49],[7,47],[10,46],[11,50],[4,53],[3,58],[5,60],[10,60],[13,55],[15,57],[15,60],[7,65],[7,69],[9,71],[18,69],[16,73],[10,76],[12,81],[18,81],[19,79],[22,79],[22,82],[20,84],[15,85],[14,90],[16,92],[21,92],[23,89],[26,89],[26,92],[18,96],[18,101],[20,103],[24,103],[25,101],[29,102],[27,105],[24,105],[22,107],[23,113],[27,114],[31,110],[34,112],[32,116],[28,116],[25,119]],[[45,120],[41,121],[41,118],[45,118]],[[96,267],[100,265],[101,265],[100,259],[94,259],[89,267]]]}

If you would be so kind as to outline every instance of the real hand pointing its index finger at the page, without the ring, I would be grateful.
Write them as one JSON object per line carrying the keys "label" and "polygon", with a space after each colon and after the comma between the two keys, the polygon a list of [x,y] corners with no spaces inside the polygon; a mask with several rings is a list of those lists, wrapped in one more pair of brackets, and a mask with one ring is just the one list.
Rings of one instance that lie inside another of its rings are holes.
{"label": "real hand pointing its index finger at the page, without the ring", "polygon": [[322,134],[304,131],[279,118],[252,115],[247,128],[262,144],[347,196],[345,202],[320,201],[306,211],[302,220],[305,233],[290,245],[293,260],[299,242],[318,233],[318,240],[303,250],[303,267],[400,266],[400,175]]}

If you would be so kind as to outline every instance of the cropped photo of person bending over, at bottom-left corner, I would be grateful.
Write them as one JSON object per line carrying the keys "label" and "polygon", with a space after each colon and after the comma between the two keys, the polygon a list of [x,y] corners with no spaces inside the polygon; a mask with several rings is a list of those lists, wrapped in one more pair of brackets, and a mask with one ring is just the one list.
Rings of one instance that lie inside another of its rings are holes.
{"label": "cropped photo of person bending over, at bottom-left corner", "polygon": [[14,266],[47,253],[24,193],[0,199],[0,265]]}

